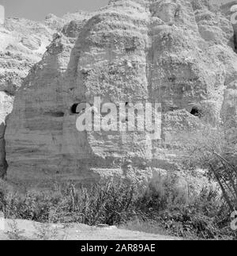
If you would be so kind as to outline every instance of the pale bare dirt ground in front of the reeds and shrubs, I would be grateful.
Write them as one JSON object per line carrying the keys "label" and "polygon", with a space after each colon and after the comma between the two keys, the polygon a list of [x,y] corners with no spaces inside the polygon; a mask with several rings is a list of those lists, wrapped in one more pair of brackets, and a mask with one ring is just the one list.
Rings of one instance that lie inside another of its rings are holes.
{"label": "pale bare dirt ground in front of the reeds and shrubs", "polygon": [[179,240],[178,238],[127,231],[118,227],[85,224],[39,224],[28,220],[2,220],[0,240],[45,239],[45,240]]}

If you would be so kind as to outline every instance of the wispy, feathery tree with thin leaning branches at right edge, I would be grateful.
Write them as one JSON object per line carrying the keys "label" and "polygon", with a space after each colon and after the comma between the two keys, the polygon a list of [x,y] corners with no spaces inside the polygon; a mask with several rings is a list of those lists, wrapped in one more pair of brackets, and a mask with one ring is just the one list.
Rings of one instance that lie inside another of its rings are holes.
{"label": "wispy, feathery tree with thin leaning branches at right edge", "polygon": [[229,210],[237,208],[237,162],[235,151],[235,130],[221,126],[205,126],[198,132],[179,136],[182,146],[188,152],[183,167],[205,170],[210,181],[216,181]]}

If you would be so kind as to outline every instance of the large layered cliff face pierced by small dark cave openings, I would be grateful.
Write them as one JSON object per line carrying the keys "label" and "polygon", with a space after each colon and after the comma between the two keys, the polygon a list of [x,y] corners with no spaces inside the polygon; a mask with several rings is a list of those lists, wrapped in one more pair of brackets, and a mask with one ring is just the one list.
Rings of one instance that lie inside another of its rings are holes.
{"label": "large layered cliff face pierced by small dark cave openings", "polygon": [[[206,2],[118,0],[67,20],[17,90],[5,134],[9,177],[147,180],[179,170],[177,132],[201,122],[236,127],[234,28],[226,8]],[[22,44],[32,50],[39,42]],[[94,96],[160,102],[161,139],[78,132],[72,106]]]}

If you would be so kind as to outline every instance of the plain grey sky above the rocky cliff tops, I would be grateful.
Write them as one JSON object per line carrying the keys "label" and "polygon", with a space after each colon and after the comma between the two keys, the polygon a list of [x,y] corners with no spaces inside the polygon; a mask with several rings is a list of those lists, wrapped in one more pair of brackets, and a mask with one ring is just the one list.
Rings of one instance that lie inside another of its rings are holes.
{"label": "plain grey sky above the rocky cliff tops", "polygon": [[[213,0],[231,2],[231,0]],[[6,17],[24,17],[30,20],[44,20],[48,13],[61,17],[77,10],[98,10],[106,6],[108,0],[0,0],[5,6]]]}

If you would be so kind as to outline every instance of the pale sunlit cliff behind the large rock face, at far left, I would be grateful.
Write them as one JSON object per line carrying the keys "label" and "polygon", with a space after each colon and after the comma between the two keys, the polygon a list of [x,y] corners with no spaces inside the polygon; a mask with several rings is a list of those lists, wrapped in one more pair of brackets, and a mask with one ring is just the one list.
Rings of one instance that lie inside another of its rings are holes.
{"label": "pale sunlit cliff behind the large rock face, at far left", "polygon": [[[70,28],[70,21],[82,22],[88,13],[71,13],[59,18],[48,15],[44,22],[8,18],[0,25],[0,124],[1,140],[0,176],[6,172],[5,120],[13,108],[13,99],[24,78],[35,63],[38,63],[54,35]],[[66,30],[67,32],[67,30]]]}

